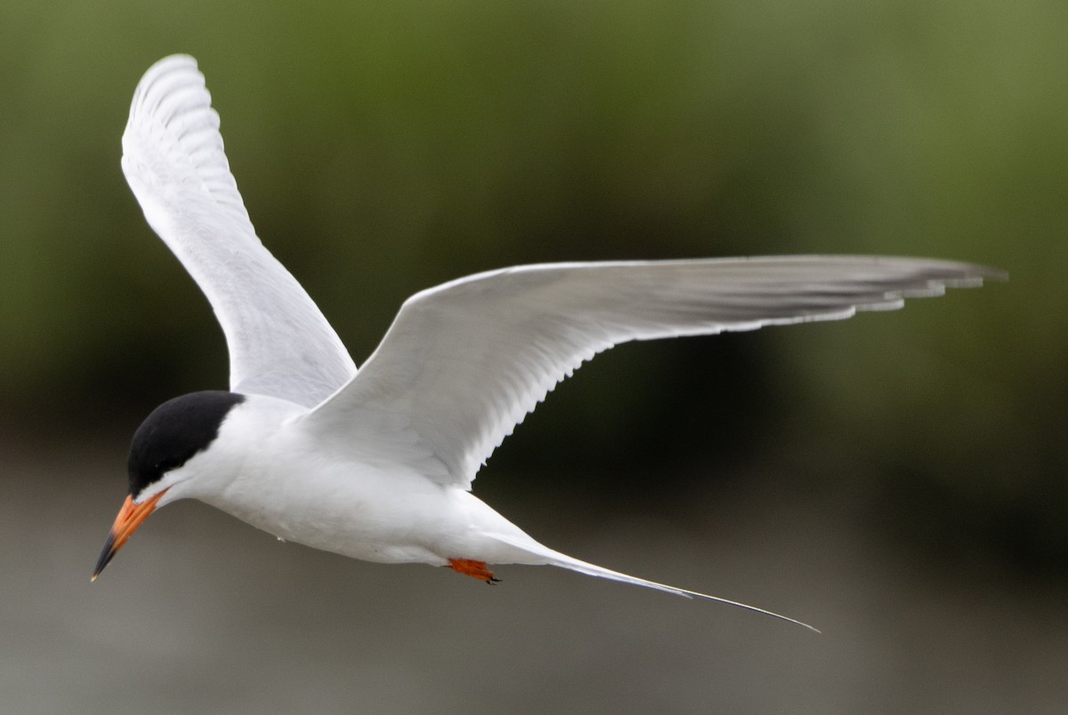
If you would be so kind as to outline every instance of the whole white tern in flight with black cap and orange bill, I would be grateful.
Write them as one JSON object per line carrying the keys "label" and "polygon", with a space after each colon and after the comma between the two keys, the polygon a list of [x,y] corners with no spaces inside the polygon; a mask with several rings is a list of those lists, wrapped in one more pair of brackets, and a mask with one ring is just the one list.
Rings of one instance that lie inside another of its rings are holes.
{"label": "whole white tern in flight with black cap and orange bill", "polygon": [[230,390],[176,397],[137,430],[129,493],[94,581],[153,511],[194,498],[285,541],[367,561],[451,567],[489,583],[489,565],[551,565],[812,627],[549,549],[471,482],[561,380],[621,343],[848,318],[1004,277],[869,256],[517,266],[415,293],[357,369],[257,238],[191,57],[164,58],[141,79],[122,166],[221,323]]}

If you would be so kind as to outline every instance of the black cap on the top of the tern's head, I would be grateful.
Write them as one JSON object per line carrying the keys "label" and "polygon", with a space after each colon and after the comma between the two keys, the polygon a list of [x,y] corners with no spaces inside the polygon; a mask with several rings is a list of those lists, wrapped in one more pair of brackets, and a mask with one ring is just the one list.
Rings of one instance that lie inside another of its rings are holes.
{"label": "black cap on the top of the tern's head", "polygon": [[237,393],[205,391],[175,397],[156,408],[130,443],[130,494],[137,498],[163,474],[207,449],[219,436],[222,420],[244,401],[245,396]]}

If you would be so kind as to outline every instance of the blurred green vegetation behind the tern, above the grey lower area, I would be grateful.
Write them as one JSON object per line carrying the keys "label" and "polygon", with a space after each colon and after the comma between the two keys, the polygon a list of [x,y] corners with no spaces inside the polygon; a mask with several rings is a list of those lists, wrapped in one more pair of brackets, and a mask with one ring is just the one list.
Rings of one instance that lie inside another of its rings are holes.
{"label": "blurred green vegetation behind the tern, above the grey lower area", "polygon": [[138,78],[184,51],[261,237],[358,362],[410,293],[509,264],[1007,269],[896,314],[613,351],[493,466],[625,499],[767,464],[890,531],[1063,570],[1065,27],[1053,0],[3,3],[3,430],[131,431],[225,385],[119,166]]}

